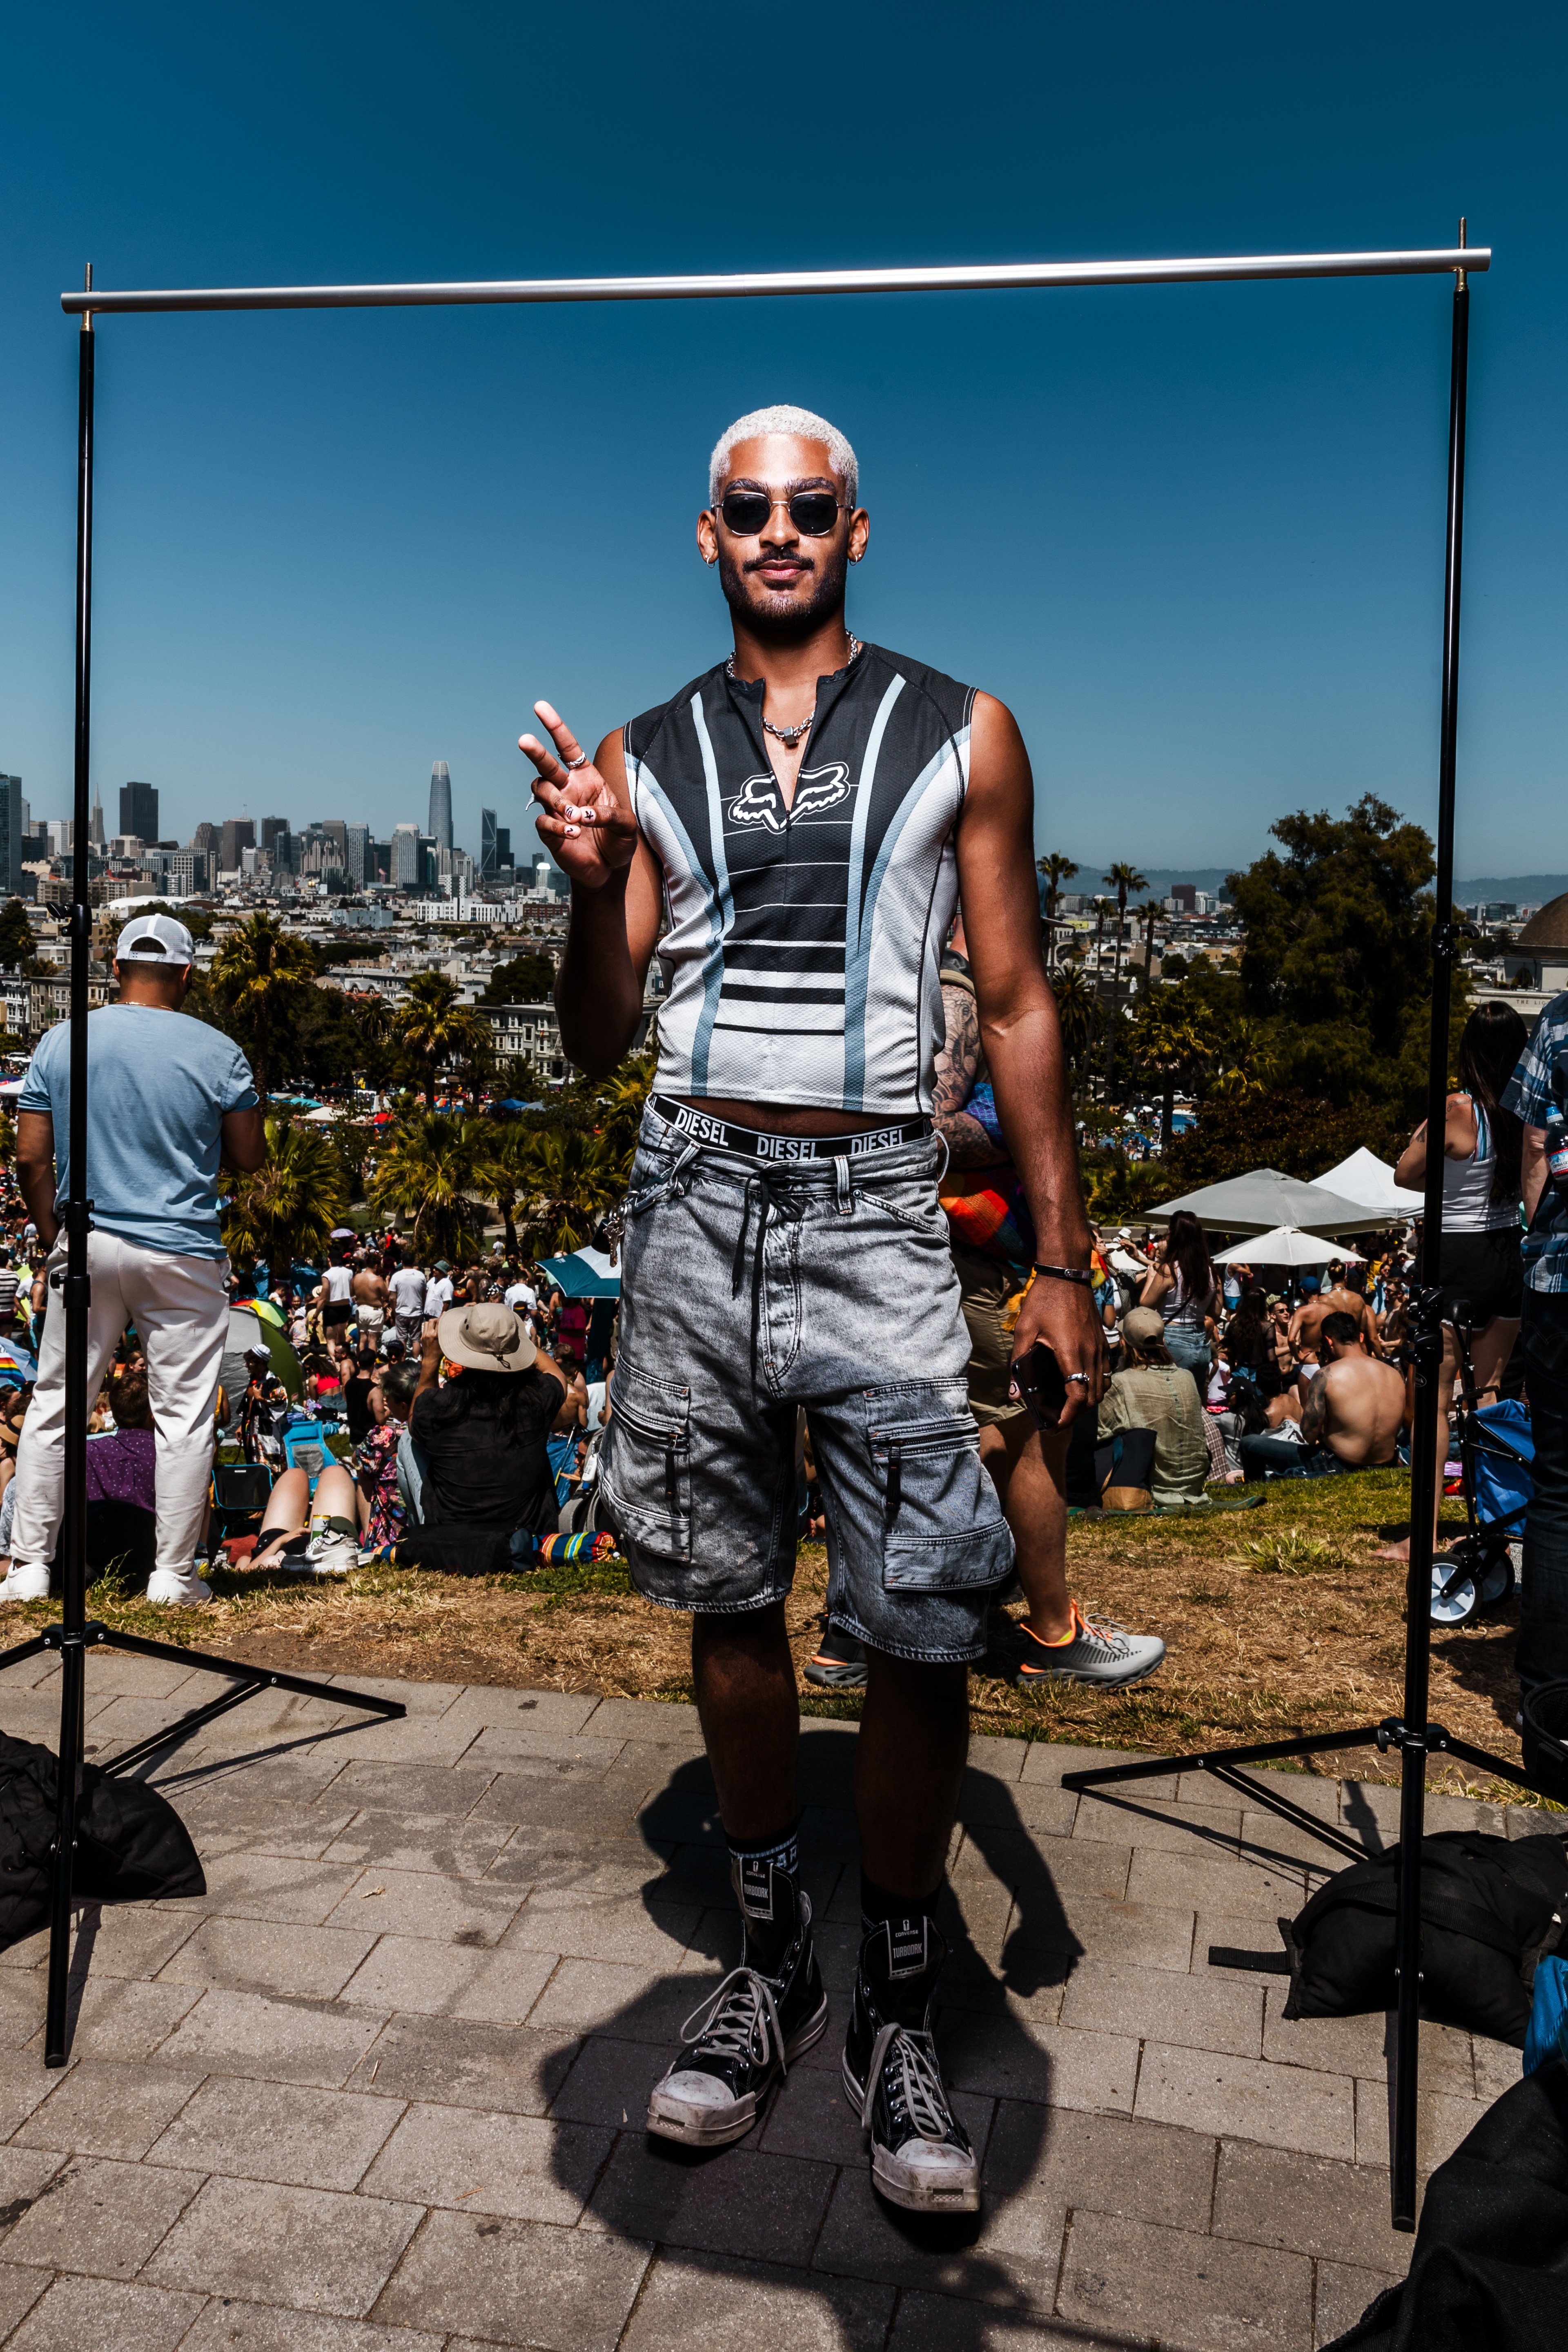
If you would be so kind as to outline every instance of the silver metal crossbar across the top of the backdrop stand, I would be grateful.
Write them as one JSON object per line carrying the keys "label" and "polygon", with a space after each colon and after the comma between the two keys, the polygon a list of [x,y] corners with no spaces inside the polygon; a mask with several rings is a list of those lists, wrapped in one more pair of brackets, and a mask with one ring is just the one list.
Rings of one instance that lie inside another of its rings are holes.
{"label": "silver metal crossbar across the top of the backdrop stand", "polygon": [[1401,254],[1239,254],[1206,261],[954,261],[919,270],[736,270],[719,278],[494,278],[409,287],[160,287],[61,294],[61,310],[395,310],[418,303],[712,301],[743,294],[976,294],[1016,287],[1197,285],[1251,278],[1432,278],[1483,270],[1490,245]]}

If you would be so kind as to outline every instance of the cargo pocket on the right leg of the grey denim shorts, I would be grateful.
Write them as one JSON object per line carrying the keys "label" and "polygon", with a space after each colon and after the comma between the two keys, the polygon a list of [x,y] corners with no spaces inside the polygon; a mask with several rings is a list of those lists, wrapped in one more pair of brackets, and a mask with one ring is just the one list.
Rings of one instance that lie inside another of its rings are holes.
{"label": "cargo pocket on the right leg of the grey denim shorts", "polygon": [[[961,1399],[961,1388],[959,1388]],[[882,1501],[882,1583],[889,1592],[966,1592],[999,1585],[1013,1536],[980,1468],[980,1432],[964,1402],[933,1385],[875,1388],[865,1399],[872,1477]]]}

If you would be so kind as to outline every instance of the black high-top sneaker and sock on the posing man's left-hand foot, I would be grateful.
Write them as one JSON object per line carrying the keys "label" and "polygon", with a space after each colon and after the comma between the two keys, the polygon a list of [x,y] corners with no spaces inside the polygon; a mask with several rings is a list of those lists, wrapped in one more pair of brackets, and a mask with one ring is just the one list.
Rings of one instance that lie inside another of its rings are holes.
{"label": "black high-top sneaker and sock on the posing man's left-hand foot", "polygon": [[731,1884],[745,1922],[741,1966],[691,2011],[686,2053],[649,2093],[649,2131],[686,2147],[743,2140],[773,2084],[827,2027],[799,1882],[771,1863],[731,1863]]}

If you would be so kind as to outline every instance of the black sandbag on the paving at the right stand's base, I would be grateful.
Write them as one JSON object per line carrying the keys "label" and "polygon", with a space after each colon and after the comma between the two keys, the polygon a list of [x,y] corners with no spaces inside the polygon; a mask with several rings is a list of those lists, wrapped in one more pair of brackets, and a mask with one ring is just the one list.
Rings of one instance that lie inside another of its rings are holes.
{"label": "black sandbag on the paving at the right stand's base", "polygon": [[[1443,1830],[1422,1839],[1422,2013],[1523,2049],[1535,1964],[1568,1945],[1561,1837]],[[1286,2018],[1394,2009],[1399,1846],[1352,1863],[1279,1933],[1291,1957]]]}

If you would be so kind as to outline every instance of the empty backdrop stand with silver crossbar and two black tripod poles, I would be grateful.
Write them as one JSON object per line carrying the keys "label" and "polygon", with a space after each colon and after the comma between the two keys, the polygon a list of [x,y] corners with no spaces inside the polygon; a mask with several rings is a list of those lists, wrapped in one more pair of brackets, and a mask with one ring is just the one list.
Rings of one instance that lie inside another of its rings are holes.
{"label": "empty backdrop stand with silver crossbar and two black tripod poles", "polygon": [[[1114,287],[1114,285],[1241,285],[1267,278],[1422,278],[1422,275],[1448,275],[1455,273],[1455,306],[1453,306],[1453,372],[1450,372],[1450,412],[1448,412],[1448,572],[1443,593],[1443,743],[1441,743],[1441,790],[1439,790],[1439,847],[1436,847],[1436,924],[1432,934],[1432,1051],[1429,1051],[1429,1084],[1427,1103],[1432,1131],[1443,1131],[1443,1103],[1448,1094],[1448,995],[1450,995],[1450,969],[1453,969],[1453,750],[1455,750],[1455,708],[1458,708],[1458,661],[1460,661],[1460,522],[1465,503],[1465,353],[1469,332],[1469,292],[1467,278],[1472,270],[1486,270],[1490,266],[1490,247],[1467,247],[1465,223],[1460,221],[1460,240],[1450,247],[1427,247],[1427,249],[1403,249],[1403,252],[1352,252],[1352,254],[1232,254],[1232,256],[1206,256],[1206,259],[1161,259],[1161,261],[997,261],[997,263],[945,263],[940,268],[884,268],[884,270],[757,270],[757,273],[731,273],[731,275],[668,275],[668,278],[498,278],[484,282],[442,282],[442,285],[339,285],[339,287],[158,287],[141,292],[113,292],[94,294],[92,280],[85,294],[61,294],[61,310],[66,315],[82,318],[82,327],[89,329],[92,313],[153,313],[153,310],[395,310],[395,308],[425,308],[444,303],[576,303],[576,301],[736,301],[757,296],[785,296],[785,294],[954,294],[954,292],[1004,292],[1004,289],[1027,289],[1027,287]],[[85,334],[85,346],[92,336]],[[92,492],[92,353],[85,355],[85,499]],[[89,513],[89,503],[82,515]],[[82,569],[78,574],[78,840],[87,837],[87,668],[85,668],[85,609],[82,609],[82,581],[87,576],[87,536],[85,522],[78,524],[78,543]],[[87,1002],[87,894],[78,882],[78,908],[73,920],[82,927],[82,946],[75,948],[73,934],[73,957],[80,955],[80,964],[73,960],[73,1023],[78,1021],[78,997],[85,1016]],[[78,978],[80,971],[80,978]],[[73,1030],[75,1042],[75,1030]],[[73,1058],[73,1084],[75,1084],[75,1058]],[[82,1075],[85,1075],[85,1044],[82,1044]],[[73,1105],[80,1089],[73,1091]],[[73,1183],[75,1171],[82,1167],[80,1155],[73,1150]],[[87,1204],[82,1204],[82,1218]],[[1418,1312],[1418,1395],[1432,1404],[1432,1414],[1418,1414],[1415,1446],[1410,1463],[1410,1576],[1408,1576],[1408,1623],[1406,1623],[1406,1705],[1401,1717],[1389,1717],[1382,1724],[1366,1724],[1356,1731],[1335,1731],[1305,1740],[1272,1740],[1262,1748],[1227,1748],[1201,1757],[1152,1757],[1138,1764],[1117,1764],[1107,1771],[1067,1773],[1065,1785],[1074,1790],[1098,1788],[1112,1780],[1143,1780],[1150,1773],[1171,1771],[1178,1764],[1182,1771],[1211,1771],[1220,1780],[1232,1780],[1232,1785],[1244,1788],[1258,1804],[1295,1820],[1300,1828],[1312,1830],[1326,1844],[1340,1851],[1363,1858],[1363,1846],[1345,1837],[1342,1830],[1331,1830],[1314,1820],[1302,1806],[1293,1804],[1288,1797],[1279,1797],[1262,1783],[1246,1778],[1241,1773],[1244,1764],[1265,1764],[1279,1757],[1307,1757],[1324,1755],[1331,1748],[1371,1748],[1380,1750],[1399,1748],[1403,1764],[1403,1790],[1401,1790],[1401,1875],[1399,1875],[1399,1924],[1396,1924],[1396,1952],[1399,1952],[1399,2056],[1396,2056],[1396,2100],[1394,2100],[1394,2225],[1399,2230],[1415,2227],[1415,2086],[1418,2086],[1418,1999],[1420,1999],[1420,1832],[1422,1832],[1422,1804],[1425,1804],[1425,1773],[1427,1757],[1434,1752],[1446,1752],[1460,1757],[1467,1764],[1476,1764],[1483,1771],[1497,1773],[1497,1778],[1516,1780],[1521,1788],[1533,1788],[1528,1776],[1516,1764],[1505,1764],[1500,1757],[1486,1755],[1481,1748],[1469,1748],[1465,1740],[1450,1738],[1441,1724],[1429,1724],[1427,1717],[1427,1677],[1429,1677],[1429,1649],[1432,1649],[1432,1623],[1429,1623],[1429,1592],[1432,1592],[1432,1524],[1434,1524],[1434,1498],[1436,1498],[1436,1376],[1443,1348],[1443,1327],[1436,1305],[1436,1265],[1441,1251],[1441,1225],[1443,1225],[1443,1160],[1441,1152],[1436,1162],[1427,1167],[1427,1270],[1425,1270],[1425,1294],[1420,1298]],[[82,1289],[85,1289],[85,1240],[82,1240]],[[85,1298],[80,1303],[82,1331],[85,1331]],[[80,1428],[87,1423],[87,1399],[78,1402]],[[85,1442],[85,1439],[82,1439]],[[80,1461],[68,1456],[68,1461]],[[80,1538],[78,1538],[80,1541]],[[80,1552],[78,1552],[78,1595],[80,1595]],[[80,1649],[89,1628],[80,1621],[80,1599],[75,1618],[75,1675],[80,1693]],[[71,1611],[66,1613],[66,1628],[59,1630],[61,1644],[71,1639]],[[132,1646],[122,1635],[110,1635],[108,1639]],[[26,1644],[31,1653],[40,1644]],[[153,1649],[162,1653],[162,1644],[134,1644],[141,1649]],[[71,1656],[71,1653],[66,1653]],[[186,1663],[197,1663],[186,1651],[174,1651],[174,1656],[186,1658]],[[5,1663],[0,1658],[0,1663]],[[235,1672],[235,1668],[223,1665],[223,1672]],[[277,1677],[284,1679],[284,1677]],[[294,1689],[315,1689],[310,1684],[294,1684]],[[66,1684],[66,1693],[71,1684]],[[247,1696],[247,1693],[242,1693]],[[331,1691],[336,1700],[353,1693]],[[228,1700],[235,1703],[235,1700]],[[369,1700],[360,1700],[369,1705]],[[71,1696],[61,1700],[61,1729],[71,1715]],[[80,1750],[80,1696],[75,1700],[75,1715],[71,1717],[75,1726],[75,1740]],[[179,1726],[176,1726],[179,1729]],[[66,1776],[61,1773],[61,1788]],[[61,1795],[63,1811],[63,1795]],[[61,1851],[68,1851],[68,1842],[61,1832]],[[52,1990],[54,2004],[54,1990]],[[61,2004],[63,2004],[63,1971],[61,1971]],[[54,2013],[54,2006],[52,2006]]]}

